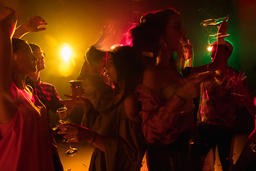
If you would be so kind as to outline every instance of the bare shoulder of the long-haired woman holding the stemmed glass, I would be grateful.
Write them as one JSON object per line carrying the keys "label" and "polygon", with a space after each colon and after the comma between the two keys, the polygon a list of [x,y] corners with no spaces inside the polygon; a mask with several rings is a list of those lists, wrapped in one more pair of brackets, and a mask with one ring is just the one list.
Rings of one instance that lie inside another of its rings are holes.
{"label": "bare shoulder of the long-haired woman holding the stemmed glass", "polygon": [[124,100],[124,110],[127,117],[135,123],[140,123],[141,118],[139,117],[139,100],[135,93],[130,94]]}

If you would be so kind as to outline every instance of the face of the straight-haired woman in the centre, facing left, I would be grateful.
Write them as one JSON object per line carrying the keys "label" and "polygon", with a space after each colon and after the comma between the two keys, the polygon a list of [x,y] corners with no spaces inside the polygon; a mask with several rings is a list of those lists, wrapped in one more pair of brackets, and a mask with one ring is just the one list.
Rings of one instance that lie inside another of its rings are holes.
{"label": "face of the straight-haired woman in the centre, facing left", "polygon": [[106,76],[110,79],[110,83],[117,83],[117,68],[114,66],[112,54],[107,56],[107,66],[105,67]]}

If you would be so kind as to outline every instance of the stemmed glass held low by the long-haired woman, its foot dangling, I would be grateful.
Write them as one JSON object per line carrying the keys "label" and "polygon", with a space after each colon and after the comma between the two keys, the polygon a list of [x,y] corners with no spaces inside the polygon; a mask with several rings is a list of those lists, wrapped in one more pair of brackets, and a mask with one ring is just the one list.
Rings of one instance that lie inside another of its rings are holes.
{"label": "stemmed glass held low by the long-haired woman, its foot dangling", "polygon": [[[71,120],[70,120],[70,117],[67,113],[67,108],[59,108],[57,110],[57,113],[58,113],[58,118],[59,118],[59,123],[71,123]],[[78,149],[77,148],[74,148],[74,147],[71,147],[70,145],[70,142],[68,142],[68,145],[70,147],[70,149],[68,149],[65,154],[66,156],[68,157],[72,157],[74,155],[76,155],[78,153]]]}

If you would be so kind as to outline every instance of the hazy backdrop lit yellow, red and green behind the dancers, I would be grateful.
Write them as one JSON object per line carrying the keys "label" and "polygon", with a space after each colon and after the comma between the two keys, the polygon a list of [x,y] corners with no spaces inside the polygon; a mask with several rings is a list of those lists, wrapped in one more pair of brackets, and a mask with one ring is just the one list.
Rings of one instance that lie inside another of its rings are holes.
{"label": "hazy backdrop lit yellow, red and green behind the dancers", "polygon": [[[227,39],[233,43],[234,51],[229,65],[246,73],[251,93],[256,88],[254,0],[0,0],[0,9],[4,6],[16,10],[18,25],[33,15],[43,17],[48,23],[46,31],[28,33],[23,38],[29,43],[37,43],[46,53],[46,69],[41,71],[41,80],[53,84],[63,99],[63,93],[71,93],[68,81],[77,78],[86,49],[97,41],[105,24],[109,21],[114,24],[114,35],[104,43],[109,49],[115,43],[124,43],[127,28],[139,21],[142,14],[167,6],[181,12],[183,28],[193,44],[195,66],[210,63],[210,53],[206,50],[208,36],[217,31],[216,26],[200,26],[201,22],[230,14]],[[60,57],[60,49],[65,43],[73,51],[68,66],[62,66]],[[251,130],[250,114],[245,108],[237,111],[241,128]],[[74,123],[80,123],[81,108],[75,108],[71,117]]]}

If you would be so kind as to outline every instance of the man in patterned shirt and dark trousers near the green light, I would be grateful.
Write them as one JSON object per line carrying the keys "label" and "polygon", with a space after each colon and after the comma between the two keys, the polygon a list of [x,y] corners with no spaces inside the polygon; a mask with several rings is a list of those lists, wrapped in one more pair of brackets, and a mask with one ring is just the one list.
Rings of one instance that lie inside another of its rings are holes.
{"label": "man in patterned shirt and dark trousers near the green light", "polygon": [[[214,42],[211,58],[215,56],[217,42]],[[224,48],[223,58],[227,61],[218,66],[213,73],[212,81],[201,83],[201,98],[198,109],[198,128],[201,128],[206,140],[206,155],[213,148],[212,166],[215,163],[215,147],[218,145],[218,155],[223,170],[233,167],[233,136],[235,125],[235,106],[243,105],[239,95],[235,95],[233,86],[234,74],[239,72],[228,66],[228,58],[233,52],[229,41],[220,41],[218,48]],[[210,167],[210,166],[209,166]],[[213,168],[212,168],[213,169]],[[214,169],[213,169],[214,170]]]}

